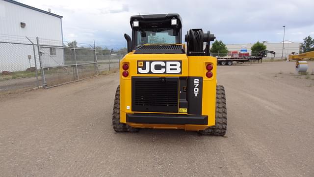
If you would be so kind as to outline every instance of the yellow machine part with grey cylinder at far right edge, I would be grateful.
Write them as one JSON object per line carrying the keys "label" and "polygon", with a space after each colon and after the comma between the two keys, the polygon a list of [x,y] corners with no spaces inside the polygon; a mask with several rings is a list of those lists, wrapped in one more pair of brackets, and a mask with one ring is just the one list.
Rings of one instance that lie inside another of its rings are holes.
{"label": "yellow machine part with grey cylinder at far right edge", "polygon": [[288,61],[295,60],[295,71],[297,73],[305,73],[308,70],[308,62],[306,59],[314,59],[314,51],[302,54],[294,54],[288,56]]}

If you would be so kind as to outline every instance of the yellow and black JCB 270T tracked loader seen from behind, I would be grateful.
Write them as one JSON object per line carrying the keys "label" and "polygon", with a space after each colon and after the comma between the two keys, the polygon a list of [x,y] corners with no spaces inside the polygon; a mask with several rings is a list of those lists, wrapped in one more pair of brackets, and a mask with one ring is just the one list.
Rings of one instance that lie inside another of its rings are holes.
{"label": "yellow and black JCB 270T tracked loader seen from behind", "polygon": [[225,135],[225,90],[217,85],[217,59],[209,55],[214,35],[190,29],[183,44],[179,14],[135,15],[130,25],[113,106],[114,131],[161,128]]}

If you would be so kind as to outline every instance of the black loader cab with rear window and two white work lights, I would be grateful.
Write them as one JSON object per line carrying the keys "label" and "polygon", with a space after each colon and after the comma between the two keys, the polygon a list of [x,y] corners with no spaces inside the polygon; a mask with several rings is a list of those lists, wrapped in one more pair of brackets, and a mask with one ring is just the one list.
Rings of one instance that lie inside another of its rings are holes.
{"label": "black loader cab with rear window and two white work lights", "polygon": [[130,18],[132,49],[151,44],[181,44],[182,19],[179,14],[135,15]]}

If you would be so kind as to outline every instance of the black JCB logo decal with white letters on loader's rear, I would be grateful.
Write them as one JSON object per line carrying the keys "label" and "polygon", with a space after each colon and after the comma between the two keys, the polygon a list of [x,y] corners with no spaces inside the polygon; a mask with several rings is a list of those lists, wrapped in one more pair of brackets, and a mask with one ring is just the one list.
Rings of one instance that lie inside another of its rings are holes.
{"label": "black JCB logo decal with white letters on loader's rear", "polygon": [[181,74],[182,61],[137,61],[137,74]]}

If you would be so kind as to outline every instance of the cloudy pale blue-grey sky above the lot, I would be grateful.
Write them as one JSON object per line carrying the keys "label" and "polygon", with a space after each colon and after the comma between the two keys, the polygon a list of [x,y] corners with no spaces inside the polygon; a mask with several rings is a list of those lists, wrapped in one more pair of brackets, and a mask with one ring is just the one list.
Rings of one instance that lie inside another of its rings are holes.
{"label": "cloudy pale blue-grey sky above the lot", "polygon": [[18,0],[63,16],[63,38],[120,49],[130,16],[179,13],[188,29],[210,30],[225,44],[302,42],[314,37],[314,0]]}

